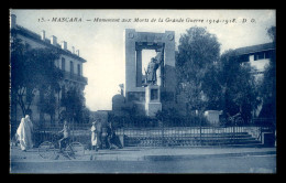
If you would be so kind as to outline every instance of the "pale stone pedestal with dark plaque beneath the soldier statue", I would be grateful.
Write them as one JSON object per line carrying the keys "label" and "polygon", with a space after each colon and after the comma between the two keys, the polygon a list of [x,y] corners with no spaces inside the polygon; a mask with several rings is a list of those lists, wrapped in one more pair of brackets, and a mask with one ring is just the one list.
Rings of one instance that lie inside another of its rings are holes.
{"label": "pale stone pedestal with dark plaque beneath the soldier statue", "polygon": [[155,117],[157,111],[162,110],[162,103],[160,101],[160,86],[148,85],[145,87],[145,111],[146,116]]}

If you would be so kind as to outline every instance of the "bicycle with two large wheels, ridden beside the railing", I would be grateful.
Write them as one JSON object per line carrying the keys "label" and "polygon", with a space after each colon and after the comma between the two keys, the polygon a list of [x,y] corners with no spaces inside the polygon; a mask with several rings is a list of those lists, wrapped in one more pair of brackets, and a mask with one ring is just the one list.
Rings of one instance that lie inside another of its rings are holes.
{"label": "bicycle with two large wheels, ridden beside the railing", "polygon": [[66,143],[66,147],[63,148],[63,150],[59,150],[57,136],[52,136],[52,141],[44,141],[42,142],[38,148],[37,152],[40,157],[43,159],[57,159],[61,154],[68,158],[69,160],[78,159],[85,154],[85,148],[80,142],[74,141],[69,143],[69,141]]}

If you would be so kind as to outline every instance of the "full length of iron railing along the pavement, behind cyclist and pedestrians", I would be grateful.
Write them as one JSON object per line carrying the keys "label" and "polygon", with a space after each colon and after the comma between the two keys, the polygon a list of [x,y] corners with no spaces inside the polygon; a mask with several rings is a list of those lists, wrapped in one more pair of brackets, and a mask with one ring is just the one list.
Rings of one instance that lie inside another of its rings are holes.
{"label": "full length of iron railing along the pavement, behind cyclist and pedestrians", "polygon": [[[272,119],[253,119],[248,126],[188,126],[188,127],[121,127],[116,133],[123,137],[124,146],[166,146],[166,144],[223,144],[261,142],[262,132],[275,131]],[[70,138],[89,146],[91,138],[90,123],[72,123]],[[58,133],[63,125],[36,127],[34,142],[38,146],[43,141],[51,141],[53,134]],[[102,128],[102,139],[107,136]]]}

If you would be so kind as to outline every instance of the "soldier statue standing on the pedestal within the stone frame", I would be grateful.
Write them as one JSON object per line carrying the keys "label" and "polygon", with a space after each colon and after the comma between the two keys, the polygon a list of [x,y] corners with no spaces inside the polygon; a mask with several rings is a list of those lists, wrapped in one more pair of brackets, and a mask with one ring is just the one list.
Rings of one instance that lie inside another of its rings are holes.
{"label": "soldier statue standing on the pedestal within the stone frame", "polygon": [[154,85],[157,82],[156,71],[160,67],[163,61],[163,50],[158,51],[155,57],[151,58],[151,62],[147,65],[146,80],[147,84]]}

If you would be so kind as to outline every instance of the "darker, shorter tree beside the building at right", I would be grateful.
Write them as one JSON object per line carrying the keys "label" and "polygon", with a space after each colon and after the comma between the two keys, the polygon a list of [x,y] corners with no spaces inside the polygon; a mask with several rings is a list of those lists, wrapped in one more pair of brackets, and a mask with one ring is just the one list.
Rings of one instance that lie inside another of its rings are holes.
{"label": "darker, shorter tree beside the building at right", "polygon": [[235,51],[229,50],[221,55],[219,67],[224,112],[234,115],[241,111],[244,121],[249,122],[252,110],[261,103],[257,98],[255,78],[251,74],[251,65],[242,63]]}

